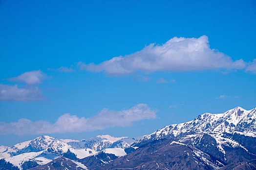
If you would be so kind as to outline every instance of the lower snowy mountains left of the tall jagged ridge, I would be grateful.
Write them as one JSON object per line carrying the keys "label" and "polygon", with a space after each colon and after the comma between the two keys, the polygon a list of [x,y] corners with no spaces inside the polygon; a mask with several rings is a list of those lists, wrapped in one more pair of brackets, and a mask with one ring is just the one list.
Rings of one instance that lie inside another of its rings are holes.
{"label": "lower snowy mountains left of the tall jagged ridge", "polygon": [[[31,165],[47,164],[63,155],[67,158],[82,159],[101,151],[108,153],[112,151],[115,154],[117,151],[114,148],[127,148],[131,143],[139,139],[141,138],[130,139],[128,137],[102,135],[79,141],[40,136],[12,147],[1,146],[0,159],[4,158],[5,161],[17,166],[19,169],[25,169],[24,167],[30,167]],[[108,150],[107,148],[113,148],[113,150]]]}

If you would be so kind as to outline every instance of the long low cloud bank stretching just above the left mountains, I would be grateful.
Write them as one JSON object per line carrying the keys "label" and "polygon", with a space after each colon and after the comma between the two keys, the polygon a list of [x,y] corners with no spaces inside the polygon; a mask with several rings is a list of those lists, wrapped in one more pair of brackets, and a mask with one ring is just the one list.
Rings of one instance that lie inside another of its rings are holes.
{"label": "long low cloud bank stretching just above the left mountains", "polygon": [[115,126],[126,127],[138,120],[156,118],[156,111],[150,109],[147,104],[137,104],[122,111],[103,109],[90,118],[64,114],[53,124],[45,120],[19,119],[18,122],[0,122],[0,134],[38,135],[94,131]]}

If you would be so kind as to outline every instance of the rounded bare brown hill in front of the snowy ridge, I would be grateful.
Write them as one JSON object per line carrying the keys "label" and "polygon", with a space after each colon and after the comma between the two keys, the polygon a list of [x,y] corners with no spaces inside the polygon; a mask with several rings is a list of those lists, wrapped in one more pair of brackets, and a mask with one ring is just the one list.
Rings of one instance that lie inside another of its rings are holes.
{"label": "rounded bare brown hill in front of the snowy ridge", "polygon": [[[202,159],[203,158],[203,159]],[[116,158],[99,170],[212,170],[211,157],[194,147],[161,139]]]}

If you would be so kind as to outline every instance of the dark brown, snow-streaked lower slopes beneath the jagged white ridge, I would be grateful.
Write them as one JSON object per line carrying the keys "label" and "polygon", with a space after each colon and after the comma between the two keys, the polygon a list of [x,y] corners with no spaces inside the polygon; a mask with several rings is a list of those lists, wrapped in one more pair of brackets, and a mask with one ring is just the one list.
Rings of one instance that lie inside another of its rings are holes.
{"label": "dark brown, snow-streaked lower slopes beneath the jagged white ridge", "polygon": [[162,138],[91,170],[216,170],[255,159],[256,137],[239,135],[204,133]]}

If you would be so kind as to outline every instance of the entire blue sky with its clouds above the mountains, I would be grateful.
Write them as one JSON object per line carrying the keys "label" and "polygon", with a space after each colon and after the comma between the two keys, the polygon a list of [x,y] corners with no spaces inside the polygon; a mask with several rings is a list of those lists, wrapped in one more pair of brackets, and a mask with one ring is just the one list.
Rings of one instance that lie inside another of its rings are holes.
{"label": "entire blue sky with its clouds above the mountains", "polygon": [[[252,109],[255,30],[254,0],[1,0],[0,145],[43,134],[142,136],[205,112]],[[60,128],[59,118],[86,128],[40,132],[42,123]],[[32,130],[18,131],[11,122],[20,119]]]}

